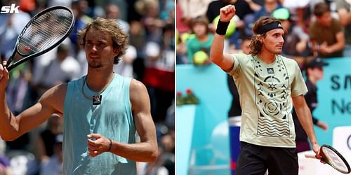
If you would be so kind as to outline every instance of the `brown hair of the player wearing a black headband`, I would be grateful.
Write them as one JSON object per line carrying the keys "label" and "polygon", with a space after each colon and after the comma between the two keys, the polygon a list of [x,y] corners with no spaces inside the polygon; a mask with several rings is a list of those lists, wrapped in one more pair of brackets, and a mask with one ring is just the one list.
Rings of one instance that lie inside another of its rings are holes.
{"label": "brown hair of the player wearing a black headband", "polygon": [[252,30],[253,30],[253,36],[251,39],[251,43],[250,43],[250,54],[251,55],[258,55],[260,54],[261,50],[262,50],[262,46],[263,43],[260,41],[260,37],[263,36],[265,38],[265,34],[258,34],[258,30],[271,23],[271,22],[278,22],[279,20],[273,18],[273,17],[269,17],[269,16],[263,16],[261,18],[259,18],[255,24],[253,24]]}

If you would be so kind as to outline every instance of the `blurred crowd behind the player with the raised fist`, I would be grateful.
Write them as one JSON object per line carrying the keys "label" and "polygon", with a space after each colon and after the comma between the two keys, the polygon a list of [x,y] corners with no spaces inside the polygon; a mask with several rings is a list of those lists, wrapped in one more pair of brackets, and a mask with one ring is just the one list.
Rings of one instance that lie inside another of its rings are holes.
{"label": "blurred crowd behind the player with the raised fist", "polygon": [[211,64],[213,32],[219,10],[227,4],[237,11],[225,34],[225,52],[247,50],[253,23],[268,15],[284,27],[282,55],[296,59],[301,69],[316,57],[351,56],[349,0],[190,0],[176,1],[177,64]]}

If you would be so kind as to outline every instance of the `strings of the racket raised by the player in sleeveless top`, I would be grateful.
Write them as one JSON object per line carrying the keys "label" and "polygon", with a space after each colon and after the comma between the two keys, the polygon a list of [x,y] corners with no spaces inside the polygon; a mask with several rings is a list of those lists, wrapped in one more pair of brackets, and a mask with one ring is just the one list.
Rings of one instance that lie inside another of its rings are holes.
{"label": "strings of the racket raised by the player in sleeveless top", "polygon": [[72,13],[65,9],[51,10],[40,15],[22,34],[18,52],[29,55],[51,47],[67,34],[72,22]]}

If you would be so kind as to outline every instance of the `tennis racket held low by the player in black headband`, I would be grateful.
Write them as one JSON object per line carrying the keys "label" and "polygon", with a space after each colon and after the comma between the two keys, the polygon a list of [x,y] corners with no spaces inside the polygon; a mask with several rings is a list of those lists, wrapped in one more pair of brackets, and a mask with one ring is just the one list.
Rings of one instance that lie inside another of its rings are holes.
{"label": "tennis racket held low by the player in black headband", "polygon": [[[334,169],[338,170],[343,174],[349,174],[351,172],[350,165],[347,163],[343,155],[341,155],[336,149],[329,145],[322,145],[319,151],[322,156],[322,160],[329,164]],[[316,158],[315,155],[305,154],[306,158]]]}

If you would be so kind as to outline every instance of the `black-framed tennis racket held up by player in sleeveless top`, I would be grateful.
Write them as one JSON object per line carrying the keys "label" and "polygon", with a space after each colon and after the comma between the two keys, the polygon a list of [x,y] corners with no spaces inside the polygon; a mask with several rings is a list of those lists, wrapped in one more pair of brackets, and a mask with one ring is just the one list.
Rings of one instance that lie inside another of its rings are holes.
{"label": "black-framed tennis racket held up by player in sleeveless top", "polygon": [[65,6],[46,8],[35,15],[18,36],[6,68],[11,71],[29,59],[52,50],[72,31],[74,16]]}

